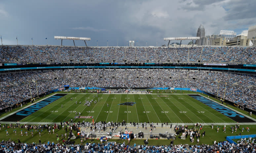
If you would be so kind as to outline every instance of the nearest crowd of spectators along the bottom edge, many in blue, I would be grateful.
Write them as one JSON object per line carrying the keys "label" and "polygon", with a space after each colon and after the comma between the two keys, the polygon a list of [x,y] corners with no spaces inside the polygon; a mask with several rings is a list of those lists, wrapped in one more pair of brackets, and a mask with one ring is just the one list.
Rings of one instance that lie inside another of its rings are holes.
{"label": "nearest crowd of spectators along the bottom edge, many in blue", "polygon": [[256,144],[241,142],[237,145],[229,142],[201,145],[136,145],[116,142],[64,145],[48,141],[47,143],[0,142],[0,153],[255,153]]}

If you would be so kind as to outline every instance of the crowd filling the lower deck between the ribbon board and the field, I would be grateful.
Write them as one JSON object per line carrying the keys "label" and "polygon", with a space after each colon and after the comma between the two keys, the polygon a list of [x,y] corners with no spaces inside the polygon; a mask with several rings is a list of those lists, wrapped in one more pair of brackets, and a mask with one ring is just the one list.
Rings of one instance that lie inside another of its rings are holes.
{"label": "crowd filling the lower deck between the ribbon board and the field", "polygon": [[[227,82],[227,85],[225,84]],[[14,105],[64,85],[72,87],[168,87],[193,88],[212,93],[241,106],[256,110],[255,75],[217,71],[178,69],[74,69],[50,70],[1,75],[0,109]],[[218,89],[219,87],[219,89]],[[218,89],[218,90],[217,90]]]}

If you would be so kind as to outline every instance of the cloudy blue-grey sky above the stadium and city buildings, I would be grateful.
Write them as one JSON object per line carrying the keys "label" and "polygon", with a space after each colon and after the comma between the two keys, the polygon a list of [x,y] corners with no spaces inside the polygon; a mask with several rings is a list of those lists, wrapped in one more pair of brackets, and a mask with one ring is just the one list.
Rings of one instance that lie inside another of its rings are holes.
{"label": "cloudy blue-grey sky above the stadium and city buildings", "polygon": [[[247,35],[256,25],[255,0],[10,0],[0,1],[3,44],[60,45],[54,36],[89,37],[90,46],[166,44],[164,37],[195,37],[234,30]],[[184,42],[185,43],[185,42]],[[187,42],[186,42],[187,43]],[[63,40],[64,45],[73,45]],[[76,45],[84,45],[76,41]]]}

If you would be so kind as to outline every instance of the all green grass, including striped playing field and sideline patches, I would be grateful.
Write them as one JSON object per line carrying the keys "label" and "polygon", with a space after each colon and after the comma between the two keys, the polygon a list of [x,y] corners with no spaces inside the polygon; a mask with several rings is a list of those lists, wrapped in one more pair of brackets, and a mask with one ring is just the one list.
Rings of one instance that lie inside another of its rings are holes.
{"label": "all green grass, including striped playing field and sideline patches", "polygon": [[[67,92],[57,92],[57,93],[67,93]],[[74,118],[76,112],[81,112],[80,116],[93,116],[94,121],[127,121],[127,122],[168,122],[168,123],[216,123],[214,124],[214,129],[211,129],[211,126],[205,125],[203,131],[206,131],[206,136],[200,139],[201,143],[212,144],[214,140],[224,141],[226,136],[238,135],[241,133],[241,130],[234,134],[231,133],[230,126],[227,126],[227,131],[224,133],[222,129],[219,133],[216,131],[217,123],[236,123],[234,120],[229,117],[215,111],[209,106],[203,104],[202,102],[190,97],[187,94],[191,92],[185,92],[186,94],[80,94],[76,92],[68,93],[65,97],[62,97],[49,105],[43,107],[42,109],[36,111],[35,113],[28,115],[19,122],[30,122],[32,124],[41,124],[41,122],[47,123],[59,123],[62,121],[68,121],[73,119],[74,122],[78,121],[92,121],[92,119],[82,119]],[[195,93],[195,92],[192,92]],[[43,98],[51,97],[53,94],[47,95]],[[166,95],[166,97],[160,97],[160,95]],[[39,100],[42,100],[40,98]],[[70,98],[73,98],[71,101]],[[92,103],[90,107],[84,106],[86,100],[98,100],[96,104]],[[210,97],[213,100],[218,101]],[[75,104],[75,101],[78,101]],[[81,104],[79,102],[81,101]],[[135,102],[133,106],[128,105],[119,105],[125,102]],[[219,101],[218,101],[219,102]],[[31,103],[29,103],[31,104]],[[28,105],[29,105],[28,104]],[[107,104],[109,107],[107,107]],[[63,105],[63,108],[61,108]],[[235,109],[240,112],[240,114],[246,114],[248,112],[242,111],[236,107],[229,105],[228,107]],[[21,108],[15,109],[10,113],[21,110]],[[22,108],[24,109],[24,108]],[[10,113],[2,114],[0,117],[8,116]],[[77,115],[78,116],[78,115]],[[255,115],[252,116],[256,118]],[[191,124],[189,128],[191,128]],[[221,125],[221,128],[223,125]],[[246,134],[255,134],[256,125],[241,125],[241,127],[250,127],[250,132],[243,132],[242,135]],[[57,142],[55,135],[49,135],[47,131],[42,132],[42,136],[39,137],[38,132],[34,133],[34,137],[31,137],[29,133],[28,136],[20,136],[20,130],[17,130],[17,136],[12,132],[13,129],[7,129],[10,133],[10,136],[6,136],[6,129],[0,130],[0,139],[17,141],[18,139],[21,142],[38,142],[39,139],[42,142],[47,142],[48,140]],[[56,133],[61,135],[65,133],[62,129],[56,130]],[[181,134],[180,134],[181,135]],[[179,136],[180,136],[179,135]],[[75,140],[76,143],[80,143],[80,140]],[[87,140],[88,141],[88,140]],[[89,140],[90,141],[90,140]],[[99,140],[94,140],[98,142]],[[114,140],[117,142],[123,142],[123,140]],[[143,140],[132,140],[130,144],[143,144]],[[169,144],[170,140],[150,140],[149,144],[152,145],[161,145]],[[177,138],[174,140],[174,144],[191,144],[191,142],[186,139],[182,140]]]}

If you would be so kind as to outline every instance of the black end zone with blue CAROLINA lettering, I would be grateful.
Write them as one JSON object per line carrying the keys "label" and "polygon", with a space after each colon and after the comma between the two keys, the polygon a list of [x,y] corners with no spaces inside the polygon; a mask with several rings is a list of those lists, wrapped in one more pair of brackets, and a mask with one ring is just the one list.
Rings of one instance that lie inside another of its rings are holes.
{"label": "black end zone with blue CAROLINA lettering", "polygon": [[27,117],[28,115],[31,115],[33,113],[35,113],[36,111],[40,110],[41,108],[44,108],[45,106],[51,104],[52,102],[58,100],[59,98],[65,96],[67,94],[55,94],[54,96],[48,97],[45,100],[42,100],[38,103],[35,103],[27,108],[22,109],[21,111],[19,111],[16,114],[10,115],[4,119],[2,119],[1,121],[19,121],[25,117]]}

